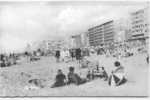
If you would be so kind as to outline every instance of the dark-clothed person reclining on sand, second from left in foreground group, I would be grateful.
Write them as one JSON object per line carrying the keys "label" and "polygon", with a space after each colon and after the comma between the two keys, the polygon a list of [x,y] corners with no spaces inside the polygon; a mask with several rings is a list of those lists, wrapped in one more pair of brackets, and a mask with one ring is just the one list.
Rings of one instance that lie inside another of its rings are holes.
{"label": "dark-clothed person reclining on sand, second from left in foreground group", "polygon": [[80,76],[78,74],[74,73],[74,67],[69,67],[67,84],[74,83],[76,85],[80,85],[85,82],[86,82],[86,79],[82,79],[82,78],[80,78]]}

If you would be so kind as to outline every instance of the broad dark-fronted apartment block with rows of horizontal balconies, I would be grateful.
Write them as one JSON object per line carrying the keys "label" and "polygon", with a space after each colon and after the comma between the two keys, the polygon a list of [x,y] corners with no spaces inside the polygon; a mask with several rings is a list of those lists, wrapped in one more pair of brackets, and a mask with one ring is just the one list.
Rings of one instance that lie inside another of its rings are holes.
{"label": "broad dark-fronted apartment block with rows of horizontal balconies", "polygon": [[88,29],[90,46],[106,45],[114,42],[114,21],[108,21],[101,25]]}

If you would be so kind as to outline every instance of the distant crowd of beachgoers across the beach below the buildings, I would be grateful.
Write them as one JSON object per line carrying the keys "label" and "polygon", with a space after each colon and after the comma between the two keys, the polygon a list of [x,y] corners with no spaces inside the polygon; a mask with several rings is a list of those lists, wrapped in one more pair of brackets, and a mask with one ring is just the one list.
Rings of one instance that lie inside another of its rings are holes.
{"label": "distant crowd of beachgoers across the beach below the buildings", "polygon": [[[54,55],[57,62],[69,62],[74,61],[75,59],[81,63],[81,60],[85,56],[90,56],[91,54],[97,55],[106,55],[107,57],[129,57],[138,53],[146,52],[145,44],[142,43],[124,43],[117,45],[109,46],[96,46],[96,47],[87,47],[87,48],[74,48],[74,49],[58,49],[55,50]],[[47,56],[42,50],[38,49],[33,52],[24,52],[24,53],[10,53],[10,54],[0,54],[0,65],[1,67],[11,66],[17,64],[17,60],[20,57],[26,57],[28,61],[37,61],[40,60],[40,56]],[[149,55],[146,58],[149,62]]]}

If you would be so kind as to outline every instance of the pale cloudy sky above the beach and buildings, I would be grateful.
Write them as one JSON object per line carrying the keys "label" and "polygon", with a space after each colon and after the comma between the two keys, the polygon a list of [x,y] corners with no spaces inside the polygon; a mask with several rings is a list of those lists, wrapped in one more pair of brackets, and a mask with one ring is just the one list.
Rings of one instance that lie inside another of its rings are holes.
{"label": "pale cloudy sky above the beach and buildings", "polygon": [[35,41],[86,32],[108,20],[126,19],[146,5],[145,2],[0,2],[0,51],[19,51]]}

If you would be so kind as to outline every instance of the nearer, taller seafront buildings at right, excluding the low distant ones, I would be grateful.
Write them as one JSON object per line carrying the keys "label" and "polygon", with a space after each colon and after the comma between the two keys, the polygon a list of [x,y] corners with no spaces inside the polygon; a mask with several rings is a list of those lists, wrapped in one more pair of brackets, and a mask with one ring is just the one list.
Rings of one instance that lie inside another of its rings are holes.
{"label": "nearer, taller seafront buildings at right, excluding the low distant ones", "polygon": [[130,14],[128,19],[109,20],[72,36],[73,47],[102,46],[118,42],[147,42],[149,38],[148,8]]}

